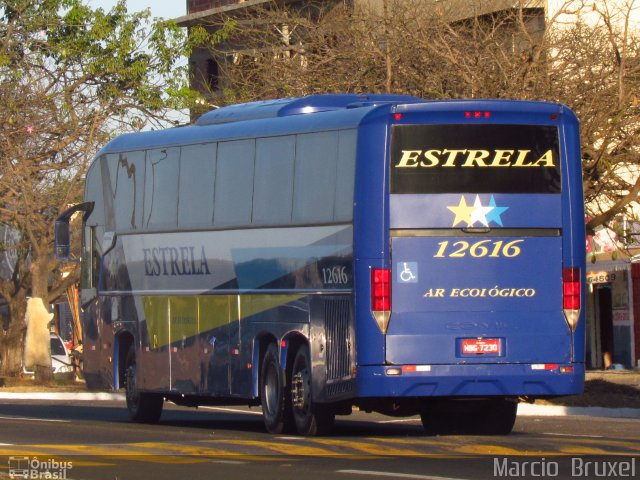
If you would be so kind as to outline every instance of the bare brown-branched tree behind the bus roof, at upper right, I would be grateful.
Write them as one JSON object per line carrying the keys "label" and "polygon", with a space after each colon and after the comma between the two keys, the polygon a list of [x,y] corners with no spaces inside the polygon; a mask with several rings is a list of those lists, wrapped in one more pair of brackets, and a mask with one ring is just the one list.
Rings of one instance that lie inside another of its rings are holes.
{"label": "bare brown-branched tree behind the bus roof, at upper right", "polygon": [[630,20],[640,1],[567,0],[546,12],[514,3],[274,3],[220,16],[211,30],[233,28],[212,49],[223,81],[209,96],[216,104],[321,92],[561,102],[581,119],[587,229],[633,215],[640,32]]}

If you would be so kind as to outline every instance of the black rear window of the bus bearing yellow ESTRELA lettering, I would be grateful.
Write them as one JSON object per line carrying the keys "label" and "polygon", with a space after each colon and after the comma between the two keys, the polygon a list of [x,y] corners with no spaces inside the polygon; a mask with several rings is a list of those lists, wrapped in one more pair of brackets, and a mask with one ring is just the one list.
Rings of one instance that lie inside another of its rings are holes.
{"label": "black rear window of the bus bearing yellow ESTRELA lettering", "polygon": [[394,125],[391,193],[560,193],[558,129]]}

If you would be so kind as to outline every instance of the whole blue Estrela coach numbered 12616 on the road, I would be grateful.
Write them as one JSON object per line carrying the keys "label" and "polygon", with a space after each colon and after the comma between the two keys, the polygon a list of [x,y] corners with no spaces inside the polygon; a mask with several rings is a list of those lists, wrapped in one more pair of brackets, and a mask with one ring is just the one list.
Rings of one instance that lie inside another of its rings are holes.
{"label": "whole blue Estrela coach numbered 12616 on the road", "polygon": [[[163,402],[261,405],[327,433],[352,408],[507,434],[581,392],[578,121],[552,103],[312,95],[109,142],[81,213],[83,369]],[[77,223],[79,223],[78,220]]]}

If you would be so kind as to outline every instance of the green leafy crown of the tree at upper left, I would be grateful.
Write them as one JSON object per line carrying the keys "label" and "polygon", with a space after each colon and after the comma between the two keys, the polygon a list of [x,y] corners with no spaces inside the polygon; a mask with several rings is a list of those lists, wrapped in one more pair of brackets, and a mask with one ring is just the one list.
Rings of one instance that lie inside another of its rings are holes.
{"label": "green leafy crown of the tree at upper left", "polygon": [[[181,64],[189,45],[174,22],[151,20],[148,10],[129,13],[125,0],[108,12],[93,10],[83,0],[6,3],[0,82],[24,82],[34,77],[34,69],[46,70],[58,80],[50,87],[59,92],[82,91],[101,106],[131,103],[160,116],[169,99],[163,87],[171,83],[171,106],[181,106],[175,92],[187,93]],[[179,83],[182,88],[176,89]]]}

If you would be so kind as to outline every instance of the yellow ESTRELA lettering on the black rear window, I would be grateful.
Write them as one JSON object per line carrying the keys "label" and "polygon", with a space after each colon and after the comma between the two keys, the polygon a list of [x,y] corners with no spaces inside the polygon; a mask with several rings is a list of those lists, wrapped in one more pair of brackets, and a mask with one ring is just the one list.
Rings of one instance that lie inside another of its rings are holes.
{"label": "yellow ESTRELA lettering on the black rear window", "polygon": [[432,167],[555,167],[553,150],[539,158],[531,150],[402,150],[396,168]]}

